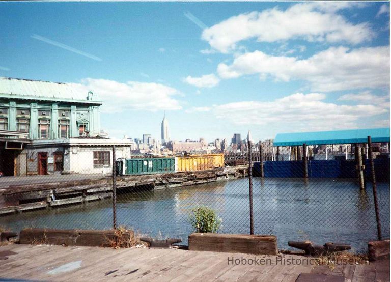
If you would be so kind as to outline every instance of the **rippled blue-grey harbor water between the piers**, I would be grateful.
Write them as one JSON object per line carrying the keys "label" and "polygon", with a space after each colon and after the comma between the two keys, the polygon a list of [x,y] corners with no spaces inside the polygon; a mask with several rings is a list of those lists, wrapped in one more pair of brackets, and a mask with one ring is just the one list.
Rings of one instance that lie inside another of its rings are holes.
{"label": "rippled blue-grey harbor water between the piers", "polygon": [[[274,234],[279,248],[289,240],[350,243],[365,251],[377,238],[372,185],[359,191],[354,180],[254,178],[255,234]],[[389,184],[378,183],[383,237],[389,237]],[[182,238],[193,231],[191,209],[206,205],[222,219],[221,233],[249,233],[248,179],[118,195],[117,225],[146,236]],[[108,229],[112,202],[74,205],[0,217],[13,231],[26,227]]]}

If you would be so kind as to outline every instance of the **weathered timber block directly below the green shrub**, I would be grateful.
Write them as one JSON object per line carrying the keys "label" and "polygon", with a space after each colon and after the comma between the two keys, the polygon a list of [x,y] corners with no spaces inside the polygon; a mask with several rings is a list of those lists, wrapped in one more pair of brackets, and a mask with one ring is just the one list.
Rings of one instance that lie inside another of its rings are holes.
{"label": "weathered timber block directly below the green shrub", "polygon": [[192,233],[189,250],[277,255],[277,237],[273,235]]}

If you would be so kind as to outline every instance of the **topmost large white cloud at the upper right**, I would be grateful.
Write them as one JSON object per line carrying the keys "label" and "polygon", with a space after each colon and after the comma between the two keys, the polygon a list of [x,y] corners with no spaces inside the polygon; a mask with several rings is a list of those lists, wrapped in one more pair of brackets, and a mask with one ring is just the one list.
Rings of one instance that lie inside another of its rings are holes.
{"label": "topmost large white cloud at the upper right", "polygon": [[303,39],[358,44],[375,36],[369,24],[352,24],[336,12],[363,5],[313,2],[296,4],[285,11],[278,7],[254,11],[233,16],[205,29],[202,39],[222,53],[235,50],[238,42],[250,38],[257,38],[259,42]]}

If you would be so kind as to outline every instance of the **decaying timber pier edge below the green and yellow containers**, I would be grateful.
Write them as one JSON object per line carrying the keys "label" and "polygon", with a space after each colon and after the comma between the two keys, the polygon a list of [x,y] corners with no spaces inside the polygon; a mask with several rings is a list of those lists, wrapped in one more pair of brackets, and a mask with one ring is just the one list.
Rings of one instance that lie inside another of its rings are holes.
{"label": "decaying timber pier edge below the green and yellow containers", "polygon": [[[207,171],[118,176],[116,182],[117,192],[124,193],[198,185],[245,176],[246,166],[228,166]],[[111,198],[112,193],[113,177],[101,174],[3,178],[0,184],[0,216],[98,201]]]}

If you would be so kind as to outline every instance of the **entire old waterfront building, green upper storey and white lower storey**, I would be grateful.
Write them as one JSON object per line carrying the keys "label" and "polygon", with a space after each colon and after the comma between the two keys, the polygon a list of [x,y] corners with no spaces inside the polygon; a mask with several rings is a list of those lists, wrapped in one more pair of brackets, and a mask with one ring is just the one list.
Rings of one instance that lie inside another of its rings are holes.
{"label": "entire old waterfront building, green upper storey and white lower storey", "polygon": [[113,145],[130,157],[132,142],[99,136],[101,105],[71,83],[0,77],[0,131],[14,136],[0,138],[0,172],[110,173]]}

